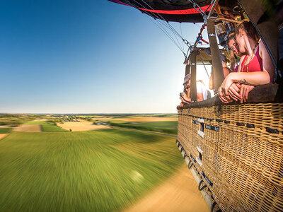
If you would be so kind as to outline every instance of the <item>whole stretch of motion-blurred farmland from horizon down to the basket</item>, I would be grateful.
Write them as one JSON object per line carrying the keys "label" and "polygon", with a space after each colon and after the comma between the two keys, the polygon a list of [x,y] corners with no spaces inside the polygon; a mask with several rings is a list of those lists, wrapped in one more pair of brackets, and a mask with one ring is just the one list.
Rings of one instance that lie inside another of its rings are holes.
{"label": "whole stretch of motion-blurred farmland from horizon down to the basket", "polygon": [[172,135],[110,123],[177,133],[172,114],[0,115],[0,211],[207,210]]}

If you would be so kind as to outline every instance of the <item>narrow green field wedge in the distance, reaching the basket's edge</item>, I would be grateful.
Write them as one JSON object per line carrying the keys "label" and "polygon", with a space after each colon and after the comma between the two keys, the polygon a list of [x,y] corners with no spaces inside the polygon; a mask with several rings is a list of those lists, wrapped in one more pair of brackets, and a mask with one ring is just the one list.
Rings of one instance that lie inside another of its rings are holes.
{"label": "narrow green field wedge in the distance, reaching the basket's edge", "polygon": [[177,134],[177,121],[172,122],[140,122],[131,124],[130,122],[110,122],[112,126],[139,129],[144,131],[158,131],[166,134]]}

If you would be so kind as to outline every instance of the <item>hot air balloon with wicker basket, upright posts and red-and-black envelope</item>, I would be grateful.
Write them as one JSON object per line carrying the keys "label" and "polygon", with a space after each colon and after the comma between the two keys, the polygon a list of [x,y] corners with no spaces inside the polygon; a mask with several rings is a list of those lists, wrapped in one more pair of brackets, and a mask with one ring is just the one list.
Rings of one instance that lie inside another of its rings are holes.
{"label": "hot air balloon with wicker basket, upright posts and red-and-black envelope", "polygon": [[[203,23],[185,55],[192,102],[177,107],[178,148],[212,211],[283,211],[282,1],[110,1],[165,22]],[[267,49],[275,80],[254,86],[244,104],[224,104],[217,94],[224,81],[220,54],[227,53],[227,37],[243,20],[252,23]],[[202,38],[204,28],[208,41]],[[200,42],[209,42],[209,47]],[[201,102],[195,86],[197,64],[214,69],[216,96]]]}

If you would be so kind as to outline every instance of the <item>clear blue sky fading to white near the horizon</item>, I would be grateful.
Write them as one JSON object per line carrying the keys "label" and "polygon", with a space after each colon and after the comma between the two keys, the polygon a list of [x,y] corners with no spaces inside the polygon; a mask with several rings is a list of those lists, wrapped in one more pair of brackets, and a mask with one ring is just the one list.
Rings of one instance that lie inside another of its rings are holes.
{"label": "clear blue sky fading to white near the horizon", "polygon": [[[181,28],[190,42],[200,31]],[[3,0],[0,31],[0,112],[163,113],[180,103],[183,53],[134,8]]]}

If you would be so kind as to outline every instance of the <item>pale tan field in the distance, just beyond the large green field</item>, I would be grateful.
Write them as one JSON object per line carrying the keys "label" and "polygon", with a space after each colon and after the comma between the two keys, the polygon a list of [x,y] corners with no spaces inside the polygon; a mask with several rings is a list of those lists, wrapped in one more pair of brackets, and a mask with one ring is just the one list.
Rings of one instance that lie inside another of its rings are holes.
{"label": "pale tan field in the distance, just beyond the large green field", "polygon": [[80,122],[64,122],[64,124],[57,124],[63,129],[71,129],[72,131],[88,131],[93,129],[108,129],[109,126],[95,125],[93,122],[81,120]]}

